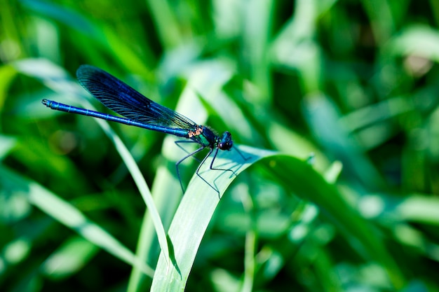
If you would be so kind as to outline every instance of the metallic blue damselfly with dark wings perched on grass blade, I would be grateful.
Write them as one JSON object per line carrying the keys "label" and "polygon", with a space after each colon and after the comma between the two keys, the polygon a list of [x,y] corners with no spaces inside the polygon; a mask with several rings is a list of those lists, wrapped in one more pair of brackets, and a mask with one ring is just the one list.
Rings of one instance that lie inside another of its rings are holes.
{"label": "metallic blue damselfly with dark wings perched on grass blade", "polygon": [[236,174],[232,169],[220,169],[213,166],[215,158],[219,150],[228,150],[234,148],[243,160],[247,160],[238,148],[234,147],[233,141],[231,139],[230,132],[224,132],[221,136],[216,134],[209,127],[198,125],[194,123],[189,118],[186,118],[180,113],[168,109],[165,106],[161,106],[151,99],[144,97],[144,95],[134,90],[126,83],[123,83],[118,78],[112,76],[111,74],[103,71],[102,69],[90,66],[82,65],[76,71],[76,76],[79,83],[88,92],[96,97],[104,106],[112,109],[116,113],[124,116],[112,116],[107,113],[100,113],[99,111],[90,111],[88,109],[81,109],[75,106],[69,106],[67,104],[60,104],[59,102],[53,102],[48,99],[43,99],[42,103],[50,109],[55,109],[57,111],[65,111],[67,113],[77,113],[83,116],[91,116],[94,118],[102,118],[104,120],[110,120],[117,123],[122,123],[126,125],[133,125],[136,127],[143,127],[148,130],[154,130],[158,132],[163,132],[166,134],[173,134],[177,137],[184,137],[189,140],[175,141],[175,144],[187,152],[181,143],[196,143],[200,145],[199,148],[194,152],[187,152],[188,154],[184,158],[180,159],[175,163],[177,168],[177,176],[180,180],[180,186],[182,187],[183,193],[183,183],[180,178],[180,170],[178,166],[187,158],[195,155],[196,153],[202,151],[204,148],[209,148],[209,152],[203,160],[201,160],[200,165],[196,169],[196,174],[205,183],[207,183],[211,188],[213,188],[217,193],[219,190],[214,188],[211,183],[206,181],[203,176],[199,173],[201,166],[208,159],[208,157],[213,154],[212,162],[210,162],[210,169],[212,170],[222,170],[229,171]]}

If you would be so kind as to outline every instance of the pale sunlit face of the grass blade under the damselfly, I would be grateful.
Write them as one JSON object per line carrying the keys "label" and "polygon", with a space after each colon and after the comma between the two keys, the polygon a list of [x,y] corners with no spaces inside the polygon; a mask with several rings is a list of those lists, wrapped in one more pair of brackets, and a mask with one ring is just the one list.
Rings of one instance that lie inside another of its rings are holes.
{"label": "pale sunlit face of the grass blade under the damselfly", "polygon": [[[244,146],[240,146],[239,150],[248,160],[243,162],[241,155],[231,150],[219,153],[215,159],[215,166],[219,167],[220,165],[224,169],[230,167],[236,174],[239,174],[257,160],[273,155],[271,151]],[[218,188],[219,195],[194,174],[168,232],[173,265],[168,266],[165,256],[161,253],[151,291],[181,291],[184,289],[205,229],[208,227],[220,197],[236,177],[229,172],[211,169],[205,171],[209,165],[210,160],[207,160],[200,169],[200,173],[206,181]]]}

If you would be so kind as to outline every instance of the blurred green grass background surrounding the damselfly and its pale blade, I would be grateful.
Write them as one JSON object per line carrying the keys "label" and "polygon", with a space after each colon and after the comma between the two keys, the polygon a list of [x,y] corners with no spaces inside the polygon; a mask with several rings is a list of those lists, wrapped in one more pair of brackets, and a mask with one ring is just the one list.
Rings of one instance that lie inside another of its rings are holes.
{"label": "blurred green grass background surrounding the damselfly and its pale blade", "polygon": [[[80,64],[283,153],[205,215],[187,291],[439,291],[436,1],[6,0],[0,20],[1,291],[149,290],[156,231],[112,137],[165,230],[179,205],[203,211],[180,204],[173,137],[112,124],[109,139],[92,118],[41,105],[86,104]],[[105,235],[76,234],[62,210]]]}

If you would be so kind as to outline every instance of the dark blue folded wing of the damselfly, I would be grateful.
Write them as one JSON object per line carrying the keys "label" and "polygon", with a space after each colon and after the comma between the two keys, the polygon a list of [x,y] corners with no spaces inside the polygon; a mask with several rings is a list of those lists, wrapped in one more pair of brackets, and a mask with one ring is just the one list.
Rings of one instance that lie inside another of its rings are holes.
{"label": "dark blue folded wing of the damselfly", "polygon": [[102,69],[81,65],[76,76],[83,88],[104,106],[130,120],[177,129],[196,127],[189,118],[153,102]]}

